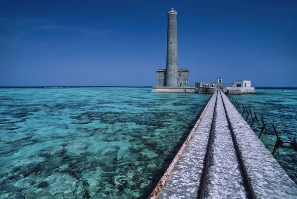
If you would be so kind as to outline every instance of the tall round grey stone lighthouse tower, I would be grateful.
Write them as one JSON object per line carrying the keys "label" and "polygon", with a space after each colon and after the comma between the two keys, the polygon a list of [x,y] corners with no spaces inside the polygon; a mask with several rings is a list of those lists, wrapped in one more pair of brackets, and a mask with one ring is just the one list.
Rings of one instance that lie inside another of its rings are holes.
{"label": "tall round grey stone lighthouse tower", "polygon": [[166,59],[166,86],[177,87],[178,60],[177,60],[177,12],[171,8],[168,13],[167,25],[167,59]]}

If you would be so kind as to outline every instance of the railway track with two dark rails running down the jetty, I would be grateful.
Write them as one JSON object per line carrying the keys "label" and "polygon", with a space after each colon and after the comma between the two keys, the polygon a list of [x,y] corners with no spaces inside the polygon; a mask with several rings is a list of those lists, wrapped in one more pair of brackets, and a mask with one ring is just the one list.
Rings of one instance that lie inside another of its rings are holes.
{"label": "railway track with two dark rails running down the jetty", "polygon": [[221,91],[215,95],[198,198],[255,199]]}

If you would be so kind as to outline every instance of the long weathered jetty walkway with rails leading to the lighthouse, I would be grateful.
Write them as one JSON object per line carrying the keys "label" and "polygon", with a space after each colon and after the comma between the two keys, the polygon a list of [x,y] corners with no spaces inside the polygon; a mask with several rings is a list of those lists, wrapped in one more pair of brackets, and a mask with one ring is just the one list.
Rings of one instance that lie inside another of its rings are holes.
{"label": "long weathered jetty walkway with rails leading to the lighthouse", "polygon": [[297,199],[297,185],[216,90],[149,199]]}

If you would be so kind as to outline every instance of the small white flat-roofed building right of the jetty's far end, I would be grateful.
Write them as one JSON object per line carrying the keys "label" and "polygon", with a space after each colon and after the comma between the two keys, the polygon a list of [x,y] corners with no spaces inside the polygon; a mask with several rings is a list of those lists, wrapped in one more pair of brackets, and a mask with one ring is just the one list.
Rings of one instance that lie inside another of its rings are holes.
{"label": "small white flat-roofed building right of the jetty's far end", "polygon": [[250,80],[235,80],[232,87],[226,87],[227,94],[254,94],[255,88],[251,87]]}

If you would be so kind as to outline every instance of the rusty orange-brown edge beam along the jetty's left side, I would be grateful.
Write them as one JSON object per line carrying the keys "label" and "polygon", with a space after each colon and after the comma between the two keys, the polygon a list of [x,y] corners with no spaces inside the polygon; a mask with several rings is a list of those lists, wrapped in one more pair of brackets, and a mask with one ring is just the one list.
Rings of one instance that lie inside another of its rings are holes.
{"label": "rusty orange-brown edge beam along the jetty's left side", "polygon": [[179,158],[181,157],[183,151],[186,149],[188,143],[190,142],[191,138],[193,137],[193,134],[199,124],[199,122],[201,121],[201,118],[203,117],[210,101],[212,100],[214,95],[212,95],[211,99],[209,99],[208,103],[206,104],[203,112],[201,113],[198,121],[196,122],[194,128],[192,129],[191,133],[189,134],[189,136],[187,137],[187,139],[185,140],[183,146],[181,147],[181,149],[177,152],[177,154],[175,155],[174,159],[172,160],[171,164],[168,166],[167,170],[165,171],[164,175],[161,177],[161,179],[159,180],[158,184],[156,185],[156,187],[154,188],[154,190],[151,192],[150,196],[148,197],[148,199],[157,199],[160,192],[162,191],[162,189],[164,188],[167,179],[169,177],[169,175],[171,174],[174,166],[177,164]]}

